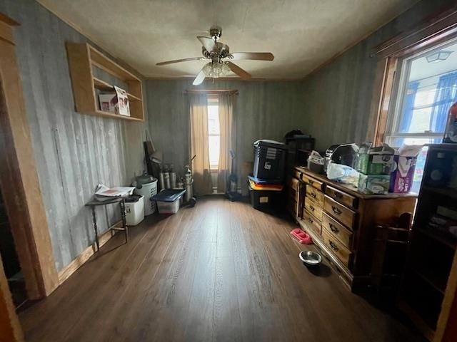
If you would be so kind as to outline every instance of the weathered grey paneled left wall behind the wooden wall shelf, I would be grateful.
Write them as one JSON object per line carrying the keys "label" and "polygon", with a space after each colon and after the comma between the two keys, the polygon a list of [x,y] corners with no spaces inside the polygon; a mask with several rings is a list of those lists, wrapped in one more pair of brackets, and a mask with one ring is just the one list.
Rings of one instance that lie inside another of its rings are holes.
{"label": "weathered grey paneled left wall behind the wooden wall shelf", "polygon": [[[87,39],[36,1],[0,1],[0,11],[21,22],[16,53],[54,259],[61,271],[94,241],[91,213],[84,208],[94,187],[99,182],[129,184],[143,170],[147,124],[125,125],[76,113],[65,43]],[[118,212],[98,212],[101,232],[119,219]]]}

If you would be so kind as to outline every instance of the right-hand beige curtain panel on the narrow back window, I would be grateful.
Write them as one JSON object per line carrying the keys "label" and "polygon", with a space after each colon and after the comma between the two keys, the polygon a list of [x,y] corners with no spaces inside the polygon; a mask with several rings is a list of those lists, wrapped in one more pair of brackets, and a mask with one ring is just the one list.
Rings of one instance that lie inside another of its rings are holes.
{"label": "right-hand beige curtain panel on the narrow back window", "polygon": [[236,128],[233,121],[234,93],[219,94],[219,127],[221,133],[221,147],[219,152],[219,168],[217,175],[217,191],[226,192],[227,181],[231,170],[230,150],[236,144]]}

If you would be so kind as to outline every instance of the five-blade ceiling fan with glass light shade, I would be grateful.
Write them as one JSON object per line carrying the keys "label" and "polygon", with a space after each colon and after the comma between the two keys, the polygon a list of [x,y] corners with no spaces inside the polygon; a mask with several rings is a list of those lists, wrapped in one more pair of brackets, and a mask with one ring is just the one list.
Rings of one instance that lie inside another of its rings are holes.
{"label": "five-blade ceiling fan with glass light shade", "polygon": [[212,26],[209,29],[211,37],[198,36],[197,38],[203,44],[201,46],[201,53],[203,57],[191,57],[176,59],[174,61],[166,61],[156,63],[156,66],[165,66],[172,63],[181,63],[187,61],[209,61],[201,69],[199,74],[194,80],[194,86],[201,84],[206,77],[219,78],[225,76],[232,71],[240,76],[243,80],[251,78],[251,74],[243,70],[231,61],[224,61],[224,58],[233,60],[250,59],[254,61],[273,61],[274,56],[271,52],[230,52],[228,45],[219,41],[222,36],[222,28],[219,26]]}

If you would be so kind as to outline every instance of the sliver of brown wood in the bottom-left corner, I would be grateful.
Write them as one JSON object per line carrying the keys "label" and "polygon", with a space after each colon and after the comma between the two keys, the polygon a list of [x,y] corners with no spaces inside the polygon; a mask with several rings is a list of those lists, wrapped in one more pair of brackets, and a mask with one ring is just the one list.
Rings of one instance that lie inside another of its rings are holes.
{"label": "sliver of brown wood in the bottom-left corner", "polygon": [[[0,16],[1,20],[1,16]],[[0,256],[0,341],[24,341]]]}

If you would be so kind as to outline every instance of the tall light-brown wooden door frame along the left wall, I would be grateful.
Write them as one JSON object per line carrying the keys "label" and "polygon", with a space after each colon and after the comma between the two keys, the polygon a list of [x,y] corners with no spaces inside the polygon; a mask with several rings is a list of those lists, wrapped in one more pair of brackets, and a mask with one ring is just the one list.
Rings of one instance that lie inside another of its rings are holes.
{"label": "tall light-brown wooden door frame along the left wall", "polygon": [[59,286],[34,151],[31,145],[14,26],[0,13],[0,186],[29,299]]}

